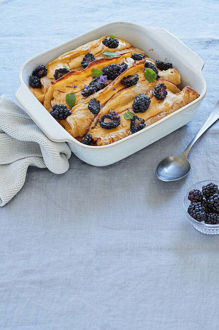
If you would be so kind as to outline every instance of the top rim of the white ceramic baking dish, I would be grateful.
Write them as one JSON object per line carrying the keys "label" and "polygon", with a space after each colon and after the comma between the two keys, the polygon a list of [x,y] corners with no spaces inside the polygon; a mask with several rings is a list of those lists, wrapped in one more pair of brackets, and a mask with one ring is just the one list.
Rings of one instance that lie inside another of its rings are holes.
{"label": "top rim of the white ceramic baking dish", "polygon": [[[30,89],[28,88],[28,86],[26,85],[26,83],[24,82],[23,77],[22,77],[22,71],[23,71],[24,67],[25,67],[30,61],[32,61],[32,60],[34,60],[34,59],[36,59],[36,58],[38,58],[38,57],[40,57],[40,56],[46,54],[47,52],[50,52],[50,51],[53,51],[53,50],[59,49],[60,47],[65,46],[65,45],[67,45],[67,44],[70,43],[70,42],[73,42],[76,38],[82,37],[82,36],[84,36],[84,35],[86,35],[86,34],[88,34],[88,33],[90,33],[90,32],[96,32],[96,31],[100,30],[101,28],[103,28],[103,27],[107,27],[108,25],[112,25],[112,24],[114,24],[114,25],[115,25],[115,24],[118,24],[118,25],[119,25],[119,24],[120,24],[120,25],[121,25],[121,24],[126,24],[126,25],[128,24],[128,25],[133,25],[133,26],[138,27],[138,28],[150,28],[150,29],[157,29],[157,28],[159,28],[159,29],[164,30],[166,33],[170,34],[170,35],[171,35],[172,37],[174,37],[175,39],[177,39],[177,40],[183,45],[183,47],[187,48],[190,52],[192,52],[195,56],[197,56],[197,57],[201,60],[202,65],[201,65],[201,67],[200,67],[200,72],[196,72],[191,66],[189,66],[188,64],[187,64],[187,65],[190,67],[191,70],[195,71],[195,72],[199,75],[200,79],[201,79],[202,82],[204,83],[204,90],[203,90],[203,92],[200,94],[200,96],[199,96],[196,100],[194,100],[194,101],[188,103],[188,104],[185,105],[184,107],[182,107],[182,108],[180,108],[180,109],[174,111],[173,113],[171,113],[171,114],[165,116],[164,118],[158,120],[157,122],[155,122],[155,123],[153,123],[153,124],[151,124],[151,125],[149,125],[149,126],[143,128],[142,130],[140,130],[140,131],[138,131],[138,132],[136,132],[136,133],[134,133],[134,134],[131,134],[131,135],[129,135],[129,136],[127,136],[127,137],[125,137],[125,138],[119,140],[119,141],[113,142],[113,143],[111,143],[111,144],[109,144],[109,145],[105,145],[105,146],[87,146],[87,145],[84,145],[84,144],[80,143],[76,138],[74,138],[73,136],[71,136],[71,134],[68,133],[68,131],[66,131],[66,130],[65,130],[65,129],[64,129],[64,128],[63,128],[63,127],[62,127],[62,126],[56,121],[56,120],[55,120],[55,118],[53,118],[53,117],[51,116],[51,119],[54,120],[54,121],[56,122],[56,124],[60,126],[59,128],[62,129],[62,132],[64,132],[64,133],[66,134],[66,138],[61,138],[61,139],[54,139],[54,138],[51,138],[51,137],[49,136],[49,134],[48,134],[47,136],[48,136],[52,141],[56,141],[56,142],[69,142],[69,143],[75,143],[75,144],[77,144],[78,146],[80,146],[81,148],[85,148],[85,149],[106,149],[106,148],[111,148],[111,147],[113,147],[113,146],[119,145],[120,143],[122,143],[122,142],[124,142],[124,141],[128,141],[129,139],[133,138],[134,136],[138,136],[138,135],[144,133],[145,131],[150,130],[150,129],[156,127],[158,124],[162,123],[163,121],[165,121],[165,120],[167,120],[167,119],[169,119],[169,118],[171,118],[171,117],[173,117],[173,116],[179,114],[180,112],[186,110],[188,107],[190,107],[190,106],[192,106],[192,105],[195,105],[196,103],[202,101],[203,98],[205,97],[206,92],[207,92],[207,84],[206,84],[206,81],[205,81],[205,79],[204,79],[204,77],[203,77],[203,75],[202,75],[202,69],[203,69],[203,67],[204,67],[204,61],[203,61],[202,58],[201,58],[199,55],[197,55],[193,50],[191,50],[190,48],[188,48],[185,44],[182,43],[182,41],[180,41],[180,40],[179,40],[177,37],[175,37],[172,33],[170,33],[169,31],[167,31],[166,29],[164,29],[164,28],[162,28],[162,27],[157,27],[157,26],[153,26],[153,27],[145,27],[145,26],[143,26],[143,25],[139,25],[139,24],[136,24],[136,23],[133,23],[133,22],[129,22],[129,21],[113,21],[113,22],[110,22],[110,23],[107,23],[107,24],[101,25],[101,26],[99,26],[99,27],[97,27],[97,28],[95,28],[95,29],[91,29],[91,30],[89,30],[89,31],[87,31],[87,32],[85,32],[85,33],[83,33],[83,34],[81,34],[81,35],[78,35],[78,36],[76,36],[76,37],[74,37],[74,38],[72,38],[72,39],[70,39],[70,40],[68,40],[68,41],[65,41],[64,43],[59,44],[59,45],[57,45],[57,46],[55,46],[55,47],[52,47],[52,48],[50,48],[50,49],[47,49],[47,50],[45,50],[45,51],[43,51],[43,52],[41,52],[41,53],[39,53],[39,54],[37,54],[37,55],[35,55],[35,56],[29,58],[28,60],[26,60],[26,61],[23,63],[23,65],[21,66],[20,70],[19,70],[19,76],[18,76],[18,78],[19,78],[19,82],[20,82],[20,87],[18,88],[18,90],[17,90],[16,93],[15,93],[15,98],[16,98],[16,94],[17,94],[17,92],[19,91],[19,89],[20,89],[21,87],[25,87],[25,90],[28,91],[28,94],[29,94],[29,95],[31,94],[31,96],[34,97],[34,99],[37,100],[37,98],[36,98],[35,95],[30,91]],[[152,34],[150,31],[147,31],[147,34],[150,34],[153,38],[155,38],[155,37],[153,36],[153,34]],[[181,60],[181,61],[182,61],[182,60]],[[182,62],[183,62],[183,61],[182,61]],[[17,99],[17,98],[16,98],[16,99]],[[38,100],[37,100],[37,101],[38,101]],[[38,101],[38,102],[39,102],[39,101]],[[39,102],[39,106],[42,106],[42,107],[45,109],[45,107],[44,107],[40,102]],[[45,111],[47,111],[47,110],[45,109]],[[40,124],[37,123],[37,125],[40,127]],[[58,126],[57,126],[57,128],[58,128]]]}

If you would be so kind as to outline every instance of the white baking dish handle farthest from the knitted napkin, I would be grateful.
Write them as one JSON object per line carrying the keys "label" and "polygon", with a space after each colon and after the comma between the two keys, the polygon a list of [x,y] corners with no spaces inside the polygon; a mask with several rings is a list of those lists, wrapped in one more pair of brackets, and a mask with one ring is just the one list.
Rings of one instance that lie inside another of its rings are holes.
{"label": "white baking dish handle farthest from the knitted napkin", "polygon": [[[204,62],[196,53],[194,53],[191,49],[189,49],[185,44],[182,43],[178,38],[173,36],[167,30],[160,27],[148,27],[146,28],[148,32],[150,32],[161,44],[165,40],[165,46],[172,50],[174,45],[174,54],[178,55],[179,58],[185,62],[188,66],[190,66],[197,73],[201,73]],[[188,63],[189,57],[189,63]]]}

